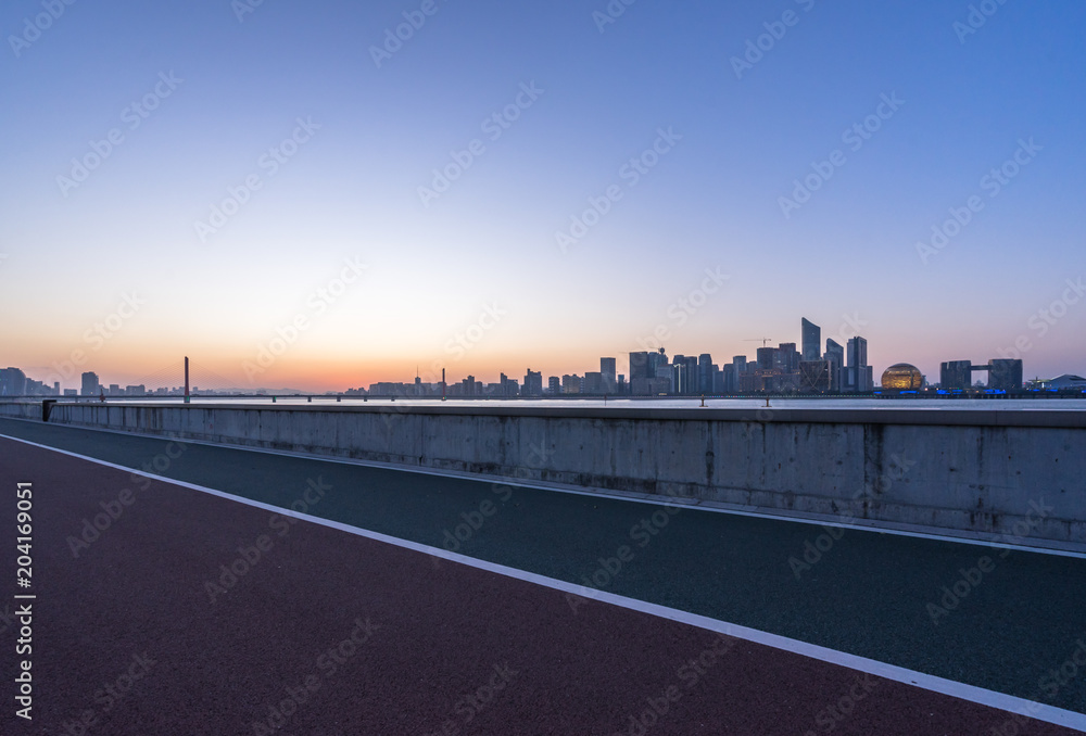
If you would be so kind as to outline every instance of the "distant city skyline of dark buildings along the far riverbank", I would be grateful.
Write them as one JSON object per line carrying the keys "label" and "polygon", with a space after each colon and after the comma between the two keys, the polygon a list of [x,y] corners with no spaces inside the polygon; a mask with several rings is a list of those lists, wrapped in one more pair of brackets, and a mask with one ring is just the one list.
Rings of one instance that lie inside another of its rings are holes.
{"label": "distant city skyline of dark buildings along the far riverbank", "polygon": [[[403,397],[491,397],[536,398],[543,396],[725,396],[757,394],[893,394],[931,392],[940,394],[988,393],[1016,391],[1086,392],[1086,379],[1063,375],[1053,379],[1035,379],[1024,386],[1022,360],[992,358],[986,364],[971,360],[948,360],[939,367],[939,383],[929,385],[920,370],[898,363],[887,368],[880,384],[875,384],[868,365],[868,341],[859,335],[841,345],[832,339],[822,345],[821,328],[804,318],[800,321],[800,344],[784,342],[771,347],[768,339],[756,350],[755,359],[736,355],[730,363],[717,365],[709,353],[668,357],[665,348],[630,353],[629,379],[617,373],[617,360],[599,358],[599,370],[583,376],[567,373],[544,377],[529,368],[522,380],[501,373],[497,382],[483,383],[475,376],[446,383],[444,371],[440,382],[424,383],[416,376],[413,383],[378,382],[368,389],[327,392],[327,395],[403,396]],[[975,373],[985,373],[986,383],[974,382]],[[144,384],[101,383],[98,373],[83,373],[79,390],[65,389],[65,396],[181,396],[185,389],[152,388]],[[193,395],[265,394],[266,390],[200,390]],[[286,391],[285,393],[303,393]],[[0,396],[59,396],[60,383],[51,386],[27,378],[18,368],[0,369]]]}

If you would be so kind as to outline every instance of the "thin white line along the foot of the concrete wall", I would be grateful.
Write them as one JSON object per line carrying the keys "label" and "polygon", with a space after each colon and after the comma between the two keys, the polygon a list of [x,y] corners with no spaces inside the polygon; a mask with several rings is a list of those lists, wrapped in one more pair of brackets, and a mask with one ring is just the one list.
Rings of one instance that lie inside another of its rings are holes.
{"label": "thin white line along the foot of the concrete wall", "polygon": [[[13,419],[15,421],[30,421],[27,419],[17,419],[15,417],[3,417],[4,419]],[[356,458],[349,457],[336,457],[332,455],[316,455],[313,453],[299,453],[288,449],[267,449],[265,447],[252,447],[248,445],[236,445],[231,443],[222,442],[209,442],[206,440],[188,440],[185,437],[172,437],[164,434],[139,434],[135,432],[123,432],[121,430],[112,430],[100,427],[81,427],[74,424],[53,424],[53,427],[62,427],[64,429],[78,429],[87,430],[90,432],[109,432],[111,434],[123,434],[125,436],[142,437],[147,440],[164,440],[167,442],[180,442],[189,445],[202,445],[204,447],[217,447],[219,449],[238,449],[247,453],[261,453],[264,455],[278,455],[285,457],[294,457],[303,460],[314,460],[317,462],[336,462],[339,465],[351,465],[358,466],[363,468],[379,468],[382,470],[392,470],[397,472],[407,473],[418,473],[420,475],[435,475],[439,478],[456,478],[459,480],[472,481],[478,483],[489,483],[492,485],[512,485],[518,488],[531,488],[533,491],[550,491],[552,493],[567,493],[574,496],[591,496],[594,498],[610,498],[613,500],[623,500],[631,504],[646,504],[649,506],[672,506],[683,509],[692,509],[698,511],[709,511],[712,513],[725,513],[729,516],[736,517],[750,517],[754,519],[769,519],[770,521],[783,521],[795,524],[808,524],[815,526],[832,526],[835,529],[846,529],[857,532],[867,532],[869,534],[889,534],[892,536],[908,536],[918,540],[931,540],[934,542],[949,542],[952,544],[967,544],[976,547],[987,547],[988,549],[1010,549],[1013,551],[1024,551],[1032,553],[1035,555],[1051,555],[1053,557],[1073,557],[1075,559],[1086,560],[1086,551],[1075,551],[1072,549],[1059,549],[1051,547],[1034,547],[1025,544],[1012,544],[1008,542],[999,542],[998,538],[1006,537],[1007,535],[997,535],[996,540],[984,540],[984,538],[971,538],[968,536],[950,536],[948,534],[939,534],[938,532],[932,531],[920,531],[920,530],[909,530],[909,529],[893,529],[888,526],[879,526],[875,522],[872,523],[849,523],[847,521],[834,521],[833,519],[808,519],[798,516],[788,516],[783,513],[772,513],[769,511],[749,511],[738,508],[730,508],[723,505],[706,505],[706,503],[698,502],[695,499],[687,499],[677,496],[655,496],[647,493],[626,493],[616,492],[607,488],[596,488],[596,490],[578,490],[559,484],[546,484],[546,483],[529,483],[523,479],[507,478],[504,475],[485,477],[479,473],[469,473],[466,471],[457,470],[441,470],[435,468],[419,468],[415,466],[397,465],[394,462],[377,462],[374,460],[359,460]],[[0,434],[0,437],[8,436]],[[17,440],[18,437],[9,437],[11,440]],[[34,443],[29,443],[34,444]],[[46,446],[46,445],[41,445]],[[50,447],[50,449],[52,449]],[[709,502],[711,504],[711,502]]]}

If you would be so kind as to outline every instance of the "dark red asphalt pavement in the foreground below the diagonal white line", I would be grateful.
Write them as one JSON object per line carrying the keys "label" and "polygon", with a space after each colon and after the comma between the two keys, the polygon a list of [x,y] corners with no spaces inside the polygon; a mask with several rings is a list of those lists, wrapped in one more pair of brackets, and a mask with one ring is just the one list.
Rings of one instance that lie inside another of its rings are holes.
{"label": "dark red asphalt pavement in the foreground below the diagonal white line", "polygon": [[33,721],[15,715],[23,657],[0,619],[0,733],[1077,733],[618,606],[574,612],[559,591],[171,483],[137,491],[73,557],[83,520],[132,485],[0,440],[0,612],[37,595]]}

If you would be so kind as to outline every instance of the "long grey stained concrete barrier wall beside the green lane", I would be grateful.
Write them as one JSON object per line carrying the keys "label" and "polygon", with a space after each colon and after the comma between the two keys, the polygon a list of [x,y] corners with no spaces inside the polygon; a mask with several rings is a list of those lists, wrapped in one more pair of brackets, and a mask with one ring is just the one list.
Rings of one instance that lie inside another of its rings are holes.
{"label": "long grey stained concrete barrier wall beside the green lane", "polygon": [[50,421],[1086,543],[1079,411],[59,404]]}

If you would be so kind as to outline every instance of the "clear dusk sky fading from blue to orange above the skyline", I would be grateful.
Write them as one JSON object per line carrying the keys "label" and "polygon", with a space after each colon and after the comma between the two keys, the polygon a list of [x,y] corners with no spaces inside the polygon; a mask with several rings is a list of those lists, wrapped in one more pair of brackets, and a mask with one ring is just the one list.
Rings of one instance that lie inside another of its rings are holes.
{"label": "clear dusk sky fading from blue to orange above the skyline", "polygon": [[[7,2],[0,364],[65,388],[79,352],[121,384],[184,355],[247,386],[416,365],[522,380],[602,355],[626,372],[657,331],[669,355],[730,361],[749,339],[798,343],[807,317],[823,341],[866,337],[876,377],[908,361],[937,380],[940,360],[1015,341],[1027,377],[1086,372],[1069,287],[1086,277],[1086,5],[970,5]],[[425,23],[378,65],[405,13]],[[508,105],[515,120],[485,124]],[[299,119],[319,128],[273,170]],[[633,183],[623,167],[659,130],[670,149]],[[808,175],[818,190],[785,214]],[[247,178],[260,188],[198,233]],[[621,198],[561,248],[608,188]],[[922,257],[970,198],[983,208]],[[348,262],[362,276],[338,283]],[[728,277],[714,293],[707,269]]]}

